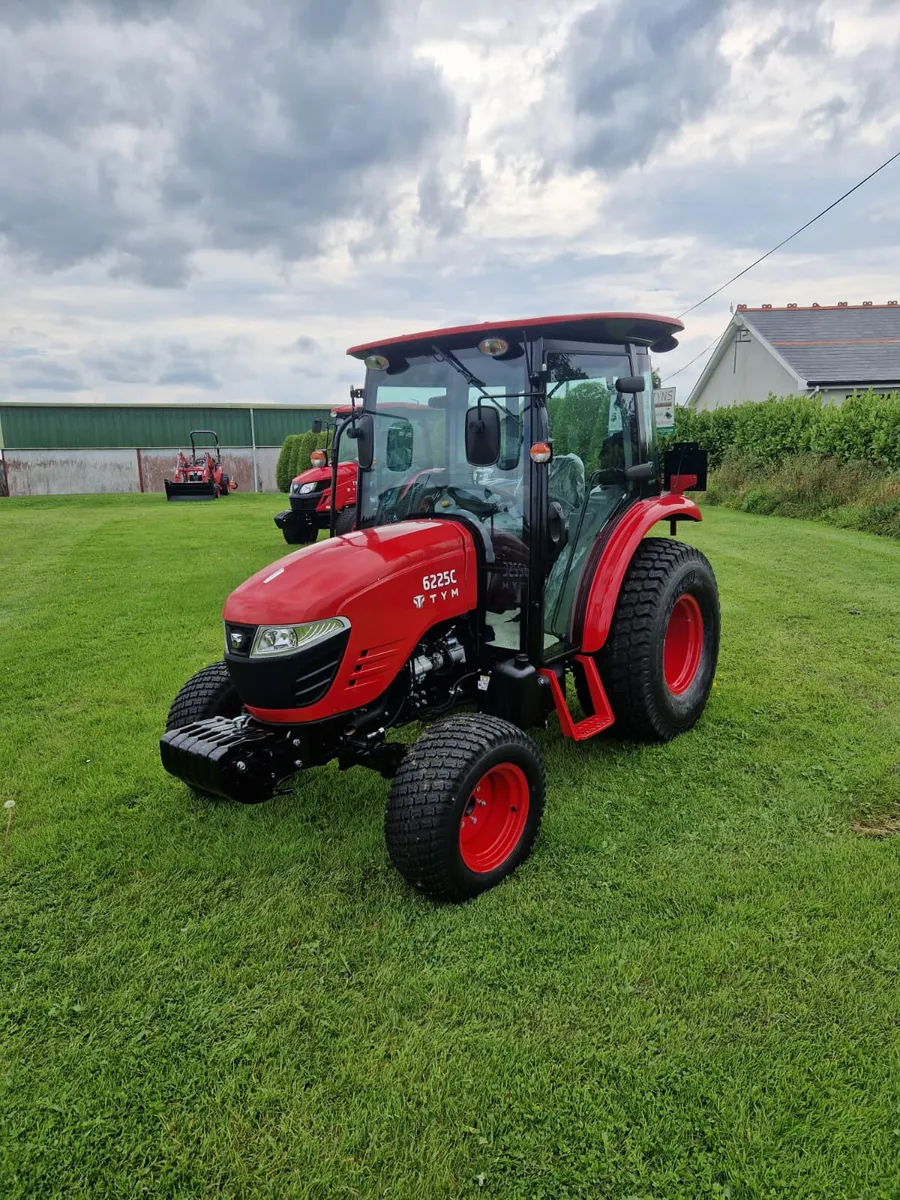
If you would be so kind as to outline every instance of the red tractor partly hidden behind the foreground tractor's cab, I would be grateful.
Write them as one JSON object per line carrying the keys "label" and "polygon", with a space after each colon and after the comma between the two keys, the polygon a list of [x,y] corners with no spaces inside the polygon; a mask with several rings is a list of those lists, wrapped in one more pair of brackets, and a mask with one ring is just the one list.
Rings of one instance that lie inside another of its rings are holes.
{"label": "red tractor partly hidden behind the foreground tractor's cab", "polygon": [[[335,408],[328,430],[334,438],[335,422],[349,416],[352,407]],[[313,432],[322,432],[322,422],[313,422]],[[296,475],[290,484],[290,508],[275,516],[275,523],[289,546],[306,546],[316,541],[322,529],[331,527],[331,493],[335,493],[335,533],[349,533],[356,520],[356,482],[359,467],[354,461],[337,463],[332,473],[328,451],[313,450],[312,468]],[[334,484],[334,487],[332,487]]]}

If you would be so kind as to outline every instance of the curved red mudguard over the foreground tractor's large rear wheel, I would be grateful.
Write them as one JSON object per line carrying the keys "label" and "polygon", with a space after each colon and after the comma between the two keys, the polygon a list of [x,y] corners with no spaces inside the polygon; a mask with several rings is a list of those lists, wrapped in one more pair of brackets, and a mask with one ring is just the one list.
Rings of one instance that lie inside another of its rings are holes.
{"label": "curved red mudguard over the foreground tractor's large rear wheel", "polygon": [[671,521],[673,517],[679,521],[703,520],[694,500],[689,500],[685,496],[670,494],[638,500],[616,526],[600,556],[600,564],[588,593],[581,640],[582,654],[596,654],[606,642],[622,582],[641,539],[658,522]]}

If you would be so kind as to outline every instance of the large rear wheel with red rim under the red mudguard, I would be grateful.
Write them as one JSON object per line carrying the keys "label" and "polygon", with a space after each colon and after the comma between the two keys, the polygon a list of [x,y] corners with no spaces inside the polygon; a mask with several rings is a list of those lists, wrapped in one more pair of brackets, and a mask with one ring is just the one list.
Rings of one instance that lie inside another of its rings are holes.
{"label": "large rear wheel with red rim under the red mudguard", "polygon": [[[680,541],[646,538],[596,656],[616,715],[611,732],[635,742],[668,742],[690,730],[713,686],[719,632],[719,589],[706,557]],[[575,685],[590,713],[580,671]]]}

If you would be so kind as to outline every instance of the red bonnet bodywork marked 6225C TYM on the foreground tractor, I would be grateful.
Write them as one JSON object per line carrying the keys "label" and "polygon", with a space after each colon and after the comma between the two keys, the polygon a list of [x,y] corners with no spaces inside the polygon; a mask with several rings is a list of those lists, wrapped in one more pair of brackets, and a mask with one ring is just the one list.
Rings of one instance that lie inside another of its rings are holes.
{"label": "red bonnet bodywork marked 6225C TYM on the foreground tractor", "polygon": [[298,724],[377,700],[433,625],[478,607],[472,535],[455,521],[403,521],[314,542],[257,571],[226,601],[240,625],[347,617],[350,638],[334,684],[306,708],[248,712]]}

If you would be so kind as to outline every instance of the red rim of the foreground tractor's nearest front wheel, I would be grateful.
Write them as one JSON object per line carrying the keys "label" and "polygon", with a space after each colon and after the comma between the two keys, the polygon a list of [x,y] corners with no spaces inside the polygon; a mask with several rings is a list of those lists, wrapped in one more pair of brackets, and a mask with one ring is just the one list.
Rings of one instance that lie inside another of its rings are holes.
{"label": "red rim of the foreground tractor's nearest front wheel", "polygon": [[528,804],[521,767],[502,762],[485,772],[460,822],[460,853],[470,871],[485,875],[506,862],[522,836]]}

